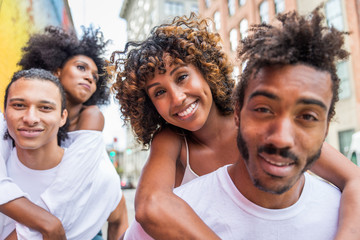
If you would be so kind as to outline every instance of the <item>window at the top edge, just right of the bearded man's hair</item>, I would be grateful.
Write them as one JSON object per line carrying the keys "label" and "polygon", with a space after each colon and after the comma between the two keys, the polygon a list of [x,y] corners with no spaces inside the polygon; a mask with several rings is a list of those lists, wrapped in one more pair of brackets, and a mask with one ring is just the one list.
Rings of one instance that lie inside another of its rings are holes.
{"label": "window at the top edge, just right of the bearded man's hair", "polygon": [[340,0],[329,0],[325,5],[325,13],[328,26],[344,30]]}

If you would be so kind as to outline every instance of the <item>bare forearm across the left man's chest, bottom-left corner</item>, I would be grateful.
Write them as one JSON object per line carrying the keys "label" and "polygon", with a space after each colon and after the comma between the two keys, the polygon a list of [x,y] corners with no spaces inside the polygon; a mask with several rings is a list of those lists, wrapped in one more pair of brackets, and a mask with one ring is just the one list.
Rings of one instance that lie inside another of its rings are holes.
{"label": "bare forearm across the left man's chest, bottom-left corner", "polygon": [[0,211],[18,223],[39,231],[44,239],[66,239],[60,220],[24,197],[0,205]]}

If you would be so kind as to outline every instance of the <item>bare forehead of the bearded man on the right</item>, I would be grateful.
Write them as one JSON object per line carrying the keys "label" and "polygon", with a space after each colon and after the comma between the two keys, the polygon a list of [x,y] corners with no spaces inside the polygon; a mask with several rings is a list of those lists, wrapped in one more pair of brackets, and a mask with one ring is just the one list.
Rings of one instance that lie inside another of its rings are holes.
{"label": "bare forehead of the bearded man on the right", "polygon": [[328,72],[298,64],[264,67],[250,78],[245,96],[256,91],[270,91],[284,98],[311,97],[331,103],[332,81]]}

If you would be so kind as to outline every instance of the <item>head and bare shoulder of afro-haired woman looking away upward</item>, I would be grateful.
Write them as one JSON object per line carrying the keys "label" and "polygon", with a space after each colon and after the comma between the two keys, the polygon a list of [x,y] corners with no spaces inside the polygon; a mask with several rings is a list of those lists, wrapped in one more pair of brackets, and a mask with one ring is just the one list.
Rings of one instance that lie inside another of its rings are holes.
{"label": "head and bare shoulder of afro-haired woman looking away upward", "polygon": [[47,27],[34,34],[22,49],[22,69],[41,68],[54,73],[64,86],[68,130],[104,128],[104,116],[96,105],[108,102],[109,89],[104,71],[107,41],[99,29],[83,28],[81,39],[61,28]]}

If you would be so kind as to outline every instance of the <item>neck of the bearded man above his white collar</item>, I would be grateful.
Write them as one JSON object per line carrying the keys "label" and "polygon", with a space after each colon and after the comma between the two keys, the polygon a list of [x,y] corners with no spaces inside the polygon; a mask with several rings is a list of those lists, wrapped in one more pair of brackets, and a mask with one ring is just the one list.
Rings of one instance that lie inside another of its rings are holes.
{"label": "neck of the bearded man above his white collar", "polygon": [[305,176],[302,174],[288,191],[282,194],[274,194],[260,190],[253,184],[243,159],[229,167],[228,171],[242,195],[256,205],[268,209],[282,209],[295,204],[301,196],[305,183]]}

